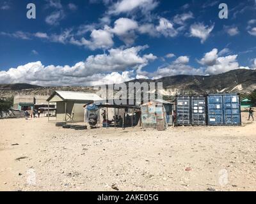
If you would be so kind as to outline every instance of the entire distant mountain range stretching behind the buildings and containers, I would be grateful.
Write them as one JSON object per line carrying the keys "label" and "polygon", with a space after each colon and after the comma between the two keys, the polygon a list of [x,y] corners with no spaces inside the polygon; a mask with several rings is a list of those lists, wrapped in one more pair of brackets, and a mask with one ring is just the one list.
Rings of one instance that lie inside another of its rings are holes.
{"label": "entire distant mountain range stretching behind the buildings and containers", "polygon": [[[256,89],[256,70],[236,69],[220,75],[176,75],[157,80],[138,79],[131,82],[163,82],[164,96],[216,92],[240,92],[244,94]],[[92,87],[40,87],[31,84],[0,84],[0,97],[17,94],[50,95],[55,90],[94,92]]]}

